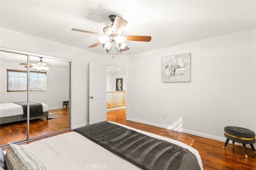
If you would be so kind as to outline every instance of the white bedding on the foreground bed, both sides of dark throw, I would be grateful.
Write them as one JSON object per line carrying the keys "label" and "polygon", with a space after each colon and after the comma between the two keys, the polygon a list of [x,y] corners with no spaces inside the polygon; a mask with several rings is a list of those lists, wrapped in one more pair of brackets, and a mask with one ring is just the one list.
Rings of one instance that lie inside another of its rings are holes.
{"label": "white bedding on the foreground bed, both sides of dark throw", "polygon": [[[196,155],[199,165],[201,169],[203,169],[200,155],[196,149],[173,139],[140,131],[119,123],[114,124],[138,131],[148,136],[166,140],[189,149]],[[36,141],[34,143],[24,145],[24,147],[30,150],[45,165],[47,170],[140,169],[76,132],[64,133],[48,139]]]}

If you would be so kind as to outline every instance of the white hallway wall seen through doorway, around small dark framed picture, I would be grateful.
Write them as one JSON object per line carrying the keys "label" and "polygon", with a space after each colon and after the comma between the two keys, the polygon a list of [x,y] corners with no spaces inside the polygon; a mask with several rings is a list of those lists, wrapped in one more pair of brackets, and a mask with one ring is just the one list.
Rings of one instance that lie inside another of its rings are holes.
{"label": "white hallway wall seen through doorway, around small dark framed picture", "polygon": [[125,72],[107,72],[107,92],[116,91],[116,78],[122,78],[123,90],[126,90],[126,74]]}

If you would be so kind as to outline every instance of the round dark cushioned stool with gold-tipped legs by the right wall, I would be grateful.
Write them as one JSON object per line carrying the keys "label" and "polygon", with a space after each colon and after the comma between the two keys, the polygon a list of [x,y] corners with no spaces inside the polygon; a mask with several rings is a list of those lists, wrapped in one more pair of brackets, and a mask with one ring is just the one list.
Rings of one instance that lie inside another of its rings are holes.
{"label": "round dark cushioned stool with gold-tipped legs by the right wall", "polygon": [[246,151],[246,144],[250,144],[252,150],[255,152],[254,146],[252,144],[255,143],[255,133],[250,129],[246,129],[243,127],[236,127],[236,126],[226,126],[224,128],[224,136],[227,138],[224,144],[223,149],[228,145],[228,141],[232,140],[234,145],[235,142],[242,143],[244,148],[245,158],[247,158],[247,151]]}

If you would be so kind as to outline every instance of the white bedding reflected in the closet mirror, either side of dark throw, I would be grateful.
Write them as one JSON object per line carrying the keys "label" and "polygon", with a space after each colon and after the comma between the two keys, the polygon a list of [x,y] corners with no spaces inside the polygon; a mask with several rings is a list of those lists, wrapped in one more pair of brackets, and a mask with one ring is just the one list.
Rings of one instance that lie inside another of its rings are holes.
{"label": "white bedding reflected in the closet mirror, either side of dark throw", "polygon": [[[40,103],[43,106],[43,111],[48,111],[47,104]],[[3,103],[0,104],[0,117],[8,117],[15,115],[23,115],[23,108],[19,104],[15,103]]]}

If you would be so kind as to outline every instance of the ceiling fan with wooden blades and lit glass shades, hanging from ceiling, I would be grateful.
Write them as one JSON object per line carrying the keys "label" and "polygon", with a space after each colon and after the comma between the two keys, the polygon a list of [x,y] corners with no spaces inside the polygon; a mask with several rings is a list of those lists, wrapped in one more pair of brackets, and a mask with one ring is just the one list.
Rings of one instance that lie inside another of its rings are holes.
{"label": "ceiling fan with wooden blades and lit glass shades, hanging from ceiling", "polygon": [[123,29],[128,23],[123,18],[116,16],[116,15],[110,15],[109,16],[110,21],[112,21],[111,25],[107,25],[103,28],[104,34],[91,32],[91,31],[85,31],[81,29],[74,29],[72,28],[72,31],[79,31],[84,33],[91,33],[100,35],[98,37],[98,42],[94,43],[93,45],[89,46],[96,47],[98,45],[102,45],[103,48],[107,51],[107,53],[112,49],[112,46],[116,48],[117,51],[120,53],[122,51],[126,51],[129,49],[129,47],[124,43],[125,40],[127,41],[145,41],[150,42],[151,36],[142,36],[142,35],[122,35]]}

